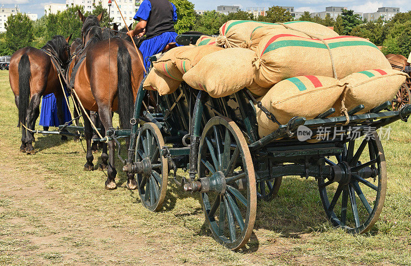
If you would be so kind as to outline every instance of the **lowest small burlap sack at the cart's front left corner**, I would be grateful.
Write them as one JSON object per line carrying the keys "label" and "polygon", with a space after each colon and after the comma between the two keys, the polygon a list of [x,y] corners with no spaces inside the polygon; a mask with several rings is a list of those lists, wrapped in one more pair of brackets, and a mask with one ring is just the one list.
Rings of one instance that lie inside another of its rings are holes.
{"label": "lowest small burlap sack at the cart's front left corner", "polygon": [[147,78],[143,83],[143,89],[157,90],[160,96],[171,94],[180,86],[181,81],[177,81],[163,75],[160,71],[153,68],[147,74]]}

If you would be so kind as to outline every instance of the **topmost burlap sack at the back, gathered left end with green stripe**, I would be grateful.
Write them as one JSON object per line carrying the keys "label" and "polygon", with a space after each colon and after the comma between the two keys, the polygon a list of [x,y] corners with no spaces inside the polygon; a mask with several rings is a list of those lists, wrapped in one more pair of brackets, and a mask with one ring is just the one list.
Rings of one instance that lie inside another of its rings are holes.
{"label": "topmost burlap sack at the back, gathered left end with green stripe", "polygon": [[250,48],[251,33],[256,27],[269,27],[278,29],[302,30],[311,34],[316,34],[322,39],[338,36],[337,32],[321,24],[307,21],[291,21],[286,23],[268,23],[256,21],[228,21],[220,27],[220,35],[216,43],[224,48],[241,47]]}

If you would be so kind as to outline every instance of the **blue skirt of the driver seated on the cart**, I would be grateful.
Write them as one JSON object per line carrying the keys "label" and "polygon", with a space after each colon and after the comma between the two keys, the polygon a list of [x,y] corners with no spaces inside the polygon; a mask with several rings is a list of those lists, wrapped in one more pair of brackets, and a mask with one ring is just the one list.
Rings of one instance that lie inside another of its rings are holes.
{"label": "blue skirt of the driver seated on the cart", "polygon": [[150,57],[160,53],[167,44],[174,43],[177,35],[176,32],[164,32],[141,43],[140,51],[143,54],[145,69],[151,66]]}

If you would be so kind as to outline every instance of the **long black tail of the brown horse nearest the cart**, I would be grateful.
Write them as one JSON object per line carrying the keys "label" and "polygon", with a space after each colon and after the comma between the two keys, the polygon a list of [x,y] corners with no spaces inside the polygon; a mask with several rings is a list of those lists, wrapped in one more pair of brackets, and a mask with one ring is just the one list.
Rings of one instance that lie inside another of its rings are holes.
{"label": "long black tail of the brown horse nearest the cart", "polygon": [[117,53],[118,75],[118,113],[120,127],[130,129],[130,119],[133,115],[133,91],[132,91],[132,58],[123,43],[119,44]]}

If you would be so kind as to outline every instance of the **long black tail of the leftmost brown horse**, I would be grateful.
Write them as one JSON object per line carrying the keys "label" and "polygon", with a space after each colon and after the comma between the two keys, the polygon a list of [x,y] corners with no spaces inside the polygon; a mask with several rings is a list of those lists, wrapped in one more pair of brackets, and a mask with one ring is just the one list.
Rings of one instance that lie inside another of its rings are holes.
{"label": "long black tail of the leftmost brown horse", "polygon": [[25,53],[18,62],[18,125],[26,123],[26,113],[30,101],[30,61]]}

